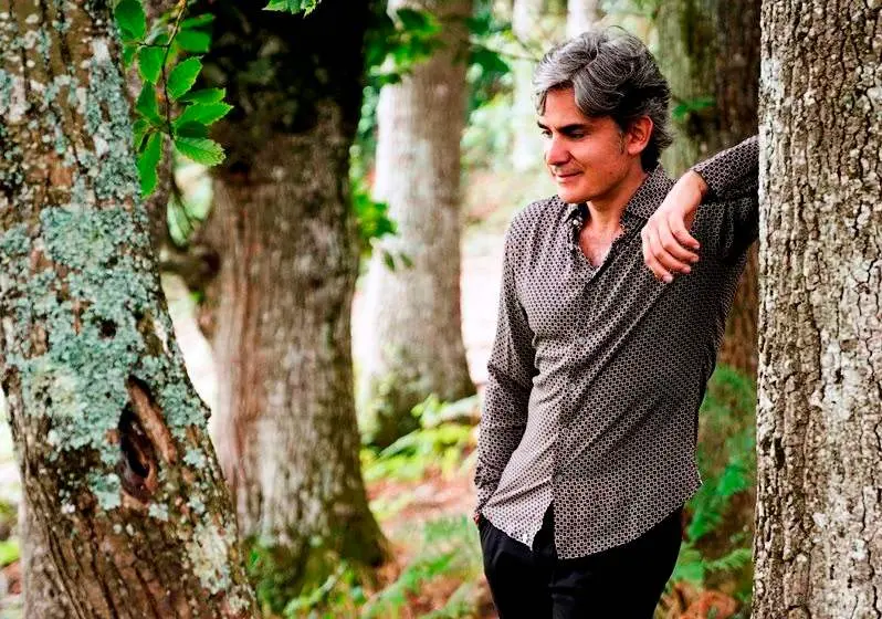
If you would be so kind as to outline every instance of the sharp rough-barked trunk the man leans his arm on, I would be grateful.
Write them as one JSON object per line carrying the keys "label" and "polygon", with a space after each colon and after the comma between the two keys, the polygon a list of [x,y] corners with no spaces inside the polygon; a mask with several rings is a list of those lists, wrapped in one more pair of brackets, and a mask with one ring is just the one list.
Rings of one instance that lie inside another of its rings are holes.
{"label": "sharp rough-barked trunk the man leans his arm on", "polygon": [[882,617],[880,20],[763,3],[757,618]]}

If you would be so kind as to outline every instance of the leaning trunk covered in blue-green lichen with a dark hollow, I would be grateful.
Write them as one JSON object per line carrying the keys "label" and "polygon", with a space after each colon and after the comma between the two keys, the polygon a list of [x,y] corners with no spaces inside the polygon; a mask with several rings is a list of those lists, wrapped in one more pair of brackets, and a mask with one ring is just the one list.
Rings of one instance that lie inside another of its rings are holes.
{"label": "leaning trunk covered in blue-green lichen with a dark hollow", "polygon": [[113,18],[60,7],[0,4],[0,379],[39,542],[28,617],[251,617],[158,285]]}

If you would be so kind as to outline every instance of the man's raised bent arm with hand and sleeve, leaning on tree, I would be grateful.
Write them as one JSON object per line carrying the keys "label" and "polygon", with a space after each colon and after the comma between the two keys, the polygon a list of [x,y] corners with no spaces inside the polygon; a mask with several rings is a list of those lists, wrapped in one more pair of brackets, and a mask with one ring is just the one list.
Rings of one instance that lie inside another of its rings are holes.
{"label": "man's raised bent arm with hand and sleeve, leaning on tree", "polygon": [[[671,282],[699,261],[701,244],[689,232],[699,204],[701,228],[717,256],[756,240],[759,221],[759,148],[753,136],[694,166],[668,193],[641,230],[643,259],[653,274]],[[697,225],[697,224],[696,224]]]}

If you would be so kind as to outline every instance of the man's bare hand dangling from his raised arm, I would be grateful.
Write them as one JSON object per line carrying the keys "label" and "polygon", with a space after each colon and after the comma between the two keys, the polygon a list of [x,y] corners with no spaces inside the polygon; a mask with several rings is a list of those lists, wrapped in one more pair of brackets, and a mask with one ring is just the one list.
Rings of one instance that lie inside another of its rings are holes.
{"label": "man's bare hand dangling from his raised arm", "polygon": [[640,231],[643,262],[657,279],[671,283],[674,274],[689,273],[690,264],[699,262],[699,241],[689,233],[689,228],[706,192],[702,177],[687,171]]}

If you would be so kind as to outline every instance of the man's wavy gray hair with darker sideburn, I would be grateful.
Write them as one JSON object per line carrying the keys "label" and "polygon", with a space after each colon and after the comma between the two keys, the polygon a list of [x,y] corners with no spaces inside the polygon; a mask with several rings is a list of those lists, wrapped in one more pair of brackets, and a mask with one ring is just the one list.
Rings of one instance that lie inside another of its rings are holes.
{"label": "man's wavy gray hair with darker sideburn", "polygon": [[536,66],[533,85],[539,114],[549,91],[571,87],[582,114],[610,116],[622,130],[649,116],[652,135],[640,154],[645,171],[655,168],[673,141],[668,81],[643,42],[624,30],[589,30],[556,45]]}

